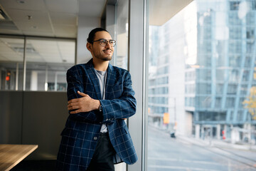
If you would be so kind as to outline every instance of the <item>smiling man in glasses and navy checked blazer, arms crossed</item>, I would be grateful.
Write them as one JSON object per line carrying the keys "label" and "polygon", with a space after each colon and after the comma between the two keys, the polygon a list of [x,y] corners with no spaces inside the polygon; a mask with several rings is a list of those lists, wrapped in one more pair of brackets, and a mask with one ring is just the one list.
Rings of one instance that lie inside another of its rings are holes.
{"label": "smiling man in glasses and navy checked blazer, arms crossed", "polygon": [[67,72],[68,116],[60,142],[59,170],[114,170],[137,161],[124,120],[136,112],[128,71],[110,65],[115,41],[103,28],[87,38],[92,59]]}

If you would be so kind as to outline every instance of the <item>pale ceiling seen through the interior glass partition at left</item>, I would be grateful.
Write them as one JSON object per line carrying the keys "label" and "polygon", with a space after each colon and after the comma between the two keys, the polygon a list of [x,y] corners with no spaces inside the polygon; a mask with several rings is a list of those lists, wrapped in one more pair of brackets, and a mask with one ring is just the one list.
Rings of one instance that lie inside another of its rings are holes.
{"label": "pale ceiling seen through the interior glass partition at left", "polygon": [[[24,41],[21,38],[0,38],[0,63],[23,63]],[[28,63],[75,63],[75,41],[52,38],[28,38]]]}

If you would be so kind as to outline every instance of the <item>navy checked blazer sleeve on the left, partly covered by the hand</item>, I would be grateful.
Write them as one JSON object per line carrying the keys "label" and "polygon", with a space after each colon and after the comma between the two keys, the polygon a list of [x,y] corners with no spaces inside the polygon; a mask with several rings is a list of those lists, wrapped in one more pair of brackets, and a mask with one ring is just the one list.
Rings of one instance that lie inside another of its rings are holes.
{"label": "navy checked blazer sleeve on the left, partly covered by the hand", "polygon": [[[74,98],[82,98],[82,96],[78,94],[78,90],[82,93],[85,92],[85,86],[83,85],[83,82],[82,82],[81,71],[80,72],[79,71],[80,70],[76,66],[75,68],[71,68],[67,71],[68,100],[72,100]],[[79,120],[81,122],[86,122],[86,123],[102,122],[102,115],[100,115],[98,110],[70,114],[70,117],[74,120]]]}

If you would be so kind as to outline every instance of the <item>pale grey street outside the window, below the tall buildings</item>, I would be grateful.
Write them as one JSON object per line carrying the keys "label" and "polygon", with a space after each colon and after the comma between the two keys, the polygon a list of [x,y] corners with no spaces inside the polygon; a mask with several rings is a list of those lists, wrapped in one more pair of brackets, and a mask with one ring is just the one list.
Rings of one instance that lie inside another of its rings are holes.
{"label": "pale grey street outside the window, below the tall buildings", "polygon": [[256,170],[256,152],[201,146],[148,127],[148,171]]}

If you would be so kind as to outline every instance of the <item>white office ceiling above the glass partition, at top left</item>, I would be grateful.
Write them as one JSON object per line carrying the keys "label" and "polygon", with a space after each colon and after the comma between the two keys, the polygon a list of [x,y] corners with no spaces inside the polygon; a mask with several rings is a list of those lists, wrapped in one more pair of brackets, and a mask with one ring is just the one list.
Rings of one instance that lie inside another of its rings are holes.
{"label": "white office ceiling above the glass partition, at top left", "polygon": [[[0,0],[0,33],[76,38],[79,16],[101,17],[107,0]],[[31,16],[31,19],[29,19]]]}

